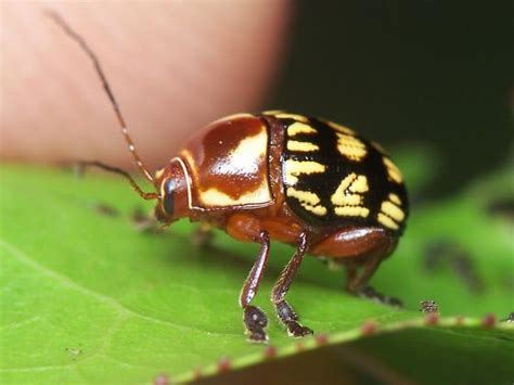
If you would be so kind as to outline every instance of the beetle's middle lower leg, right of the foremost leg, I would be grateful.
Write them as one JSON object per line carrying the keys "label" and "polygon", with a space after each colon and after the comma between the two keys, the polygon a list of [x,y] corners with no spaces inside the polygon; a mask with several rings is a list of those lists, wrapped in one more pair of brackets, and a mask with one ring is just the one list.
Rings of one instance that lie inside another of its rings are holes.
{"label": "beetle's middle lower leg, right of the foremost leg", "polygon": [[312,334],[312,330],[304,326],[298,322],[298,316],[295,309],[285,300],[285,295],[290,290],[291,283],[298,270],[304,255],[307,251],[307,235],[306,233],[300,234],[298,248],[296,249],[293,258],[287,262],[284,270],[280,274],[273,290],[271,291],[271,300],[273,301],[277,316],[282,323],[287,328],[287,333],[294,337],[301,337],[304,335]]}

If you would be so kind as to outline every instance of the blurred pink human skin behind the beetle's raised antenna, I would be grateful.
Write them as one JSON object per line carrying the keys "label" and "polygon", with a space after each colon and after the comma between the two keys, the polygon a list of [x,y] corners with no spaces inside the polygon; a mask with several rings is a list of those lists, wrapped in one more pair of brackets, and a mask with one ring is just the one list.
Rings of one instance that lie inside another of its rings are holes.
{"label": "blurred pink human skin behind the beetle's raised antenna", "polygon": [[89,57],[99,56],[140,156],[165,165],[221,116],[259,107],[283,52],[291,4],[277,0],[1,3],[0,157],[101,161],[133,169]]}

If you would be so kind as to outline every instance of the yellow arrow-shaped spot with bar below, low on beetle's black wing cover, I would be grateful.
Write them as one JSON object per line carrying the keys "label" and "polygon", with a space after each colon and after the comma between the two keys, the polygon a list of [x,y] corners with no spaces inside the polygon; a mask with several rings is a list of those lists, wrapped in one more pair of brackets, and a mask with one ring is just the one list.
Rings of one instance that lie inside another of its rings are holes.
{"label": "yellow arrow-shaped spot with bar below, low on beetle's black wing cover", "polygon": [[334,213],[338,216],[368,217],[370,210],[362,205],[362,193],[369,190],[368,178],[355,172],[345,177],[331,196],[336,206]]}

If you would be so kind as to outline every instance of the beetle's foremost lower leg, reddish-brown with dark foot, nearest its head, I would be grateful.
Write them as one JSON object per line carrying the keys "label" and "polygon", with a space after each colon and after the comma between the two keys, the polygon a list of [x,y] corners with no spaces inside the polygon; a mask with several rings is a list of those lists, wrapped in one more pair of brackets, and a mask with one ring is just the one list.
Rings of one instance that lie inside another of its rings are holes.
{"label": "beetle's foremost lower leg, reddish-brown with dark foot, nearest its head", "polygon": [[270,238],[267,231],[260,232],[259,242],[260,252],[241,290],[240,305],[243,308],[243,323],[248,339],[256,343],[266,343],[268,335],[265,328],[268,325],[268,317],[258,307],[249,305],[257,294],[269,257]]}

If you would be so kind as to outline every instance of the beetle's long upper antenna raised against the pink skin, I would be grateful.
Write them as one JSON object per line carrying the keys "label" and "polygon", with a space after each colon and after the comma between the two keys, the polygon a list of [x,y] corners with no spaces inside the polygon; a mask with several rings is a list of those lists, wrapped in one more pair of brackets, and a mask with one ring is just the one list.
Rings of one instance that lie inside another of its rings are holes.
{"label": "beetle's long upper antenna raised against the pink skin", "polygon": [[[136,162],[136,165],[138,166],[140,172],[150,182],[154,183],[154,178],[149,172],[149,170],[144,166],[143,162],[139,157],[138,153],[136,152],[136,147],[133,145],[132,138],[130,138],[130,136],[128,133],[127,125],[125,124],[125,119],[121,115],[119,104],[116,101],[116,98],[114,97],[114,93],[111,89],[111,86],[108,85],[107,78],[106,78],[106,76],[105,76],[105,74],[102,69],[102,66],[101,66],[100,61],[98,60],[97,55],[89,48],[86,40],[80,35],[78,35],[74,29],[72,29],[72,27],[64,21],[63,17],[61,17],[61,15],[59,13],[56,13],[54,11],[48,11],[48,15],[64,30],[64,33],[66,35],[68,35],[73,40],[75,40],[80,46],[80,48],[88,54],[88,56],[93,62],[94,69],[97,70],[97,74],[99,75],[100,80],[102,81],[102,86],[103,86],[105,92],[107,93],[108,100],[111,101],[111,104],[114,107],[114,112],[116,113],[116,117],[118,118],[118,123],[121,127],[121,133],[125,137],[125,141],[128,144],[128,149],[129,149],[130,153],[132,154],[132,157]],[[132,180],[132,182],[133,182],[133,180]],[[133,183],[132,183],[132,187],[133,187]],[[138,188],[138,190],[139,190],[139,188]],[[141,191],[141,190],[139,190],[139,191]]]}

